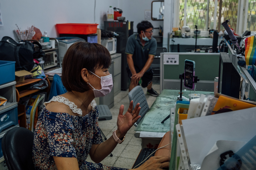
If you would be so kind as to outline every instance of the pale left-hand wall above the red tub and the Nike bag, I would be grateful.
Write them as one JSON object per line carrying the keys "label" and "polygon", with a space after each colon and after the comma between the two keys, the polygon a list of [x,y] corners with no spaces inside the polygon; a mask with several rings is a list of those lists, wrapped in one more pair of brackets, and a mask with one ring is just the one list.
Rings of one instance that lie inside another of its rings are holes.
{"label": "pale left-hand wall above the red tub and the Nike bag", "polygon": [[[49,37],[57,37],[55,24],[94,23],[94,0],[1,0],[0,10],[4,26],[0,26],[0,40],[3,36],[14,36],[17,24],[22,30],[34,25]],[[118,0],[96,0],[95,23],[104,28],[103,17],[109,6]],[[149,8],[150,9],[150,8]],[[17,39],[16,39],[17,40]]]}

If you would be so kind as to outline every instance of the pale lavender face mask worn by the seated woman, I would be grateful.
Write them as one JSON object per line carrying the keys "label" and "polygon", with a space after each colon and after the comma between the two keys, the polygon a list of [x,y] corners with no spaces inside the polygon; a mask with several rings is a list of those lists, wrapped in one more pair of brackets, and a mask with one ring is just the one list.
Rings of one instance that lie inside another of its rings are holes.
{"label": "pale lavender face mask worn by the seated woman", "polygon": [[[94,74],[92,71],[90,71],[92,74]],[[97,76],[96,74],[94,74],[95,76]],[[109,94],[112,90],[113,87],[113,80],[112,80],[112,74],[108,75],[108,76],[103,76],[103,77],[99,77],[100,78],[100,84],[101,84],[101,89],[97,90],[94,87],[93,88],[93,93],[94,93],[94,97],[103,97],[106,96],[107,94]],[[90,83],[88,83],[90,85]],[[92,86],[92,85],[90,85]]]}

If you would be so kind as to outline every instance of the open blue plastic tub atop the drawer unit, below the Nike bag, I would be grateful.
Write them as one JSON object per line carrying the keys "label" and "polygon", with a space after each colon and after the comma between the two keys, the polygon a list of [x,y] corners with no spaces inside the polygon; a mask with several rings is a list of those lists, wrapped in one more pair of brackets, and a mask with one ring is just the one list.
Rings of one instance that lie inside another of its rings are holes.
{"label": "open blue plastic tub atop the drawer unit, below the Nike bag", "polygon": [[15,80],[15,61],[0,60],[0,85]]}

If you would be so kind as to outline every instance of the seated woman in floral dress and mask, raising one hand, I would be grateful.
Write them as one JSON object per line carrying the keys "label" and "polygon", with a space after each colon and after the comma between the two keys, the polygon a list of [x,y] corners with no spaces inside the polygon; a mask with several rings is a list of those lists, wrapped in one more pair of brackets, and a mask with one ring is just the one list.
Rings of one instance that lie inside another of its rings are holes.
{"label": "seated woman in floral dress and mask, raising one hand", "polygon": [[[140,107],[138,103],[132,110],[131,102],[123,115],[124,105],[121,105],[117,129],[102,142],[94,98],[107,95],[113,87],[108,72],[110,64],[111,56],[100,44],[82,41],[68,48],[62,62],[62,82],[68,92],[45,102],[36,124],[33,145],[36,169],[123,169],[100,162],[124,141],[127,131],[140,118]],[[96,163],[86,161],[88,154]],[[137,169],[166,167],[168,159],[152,157]]]}

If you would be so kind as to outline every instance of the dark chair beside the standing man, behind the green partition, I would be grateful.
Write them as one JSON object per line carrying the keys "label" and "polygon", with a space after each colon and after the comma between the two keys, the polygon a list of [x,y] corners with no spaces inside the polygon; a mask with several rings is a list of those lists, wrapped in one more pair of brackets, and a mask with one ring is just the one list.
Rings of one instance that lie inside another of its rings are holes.
{"label": "dark chair beside the standing man, behind the green partition", "polygon": [[160,77],[160,53],[166,53],[167,49],[164,47],[156,48],[156,56],[151,64],[151,68],[154,72],[153,77]]}

